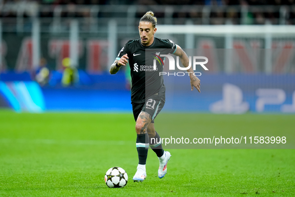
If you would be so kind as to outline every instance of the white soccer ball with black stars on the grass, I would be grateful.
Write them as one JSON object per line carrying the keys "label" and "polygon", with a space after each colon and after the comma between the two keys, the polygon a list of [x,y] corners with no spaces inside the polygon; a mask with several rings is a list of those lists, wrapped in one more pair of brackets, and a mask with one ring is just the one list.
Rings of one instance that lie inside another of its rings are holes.
{"label": "white soccer ball with black stars on the grass", "polygon": [[104,181],[108,187],[124,187],[128,181],[128,175],[122,167],[111,167],[105,175]]}

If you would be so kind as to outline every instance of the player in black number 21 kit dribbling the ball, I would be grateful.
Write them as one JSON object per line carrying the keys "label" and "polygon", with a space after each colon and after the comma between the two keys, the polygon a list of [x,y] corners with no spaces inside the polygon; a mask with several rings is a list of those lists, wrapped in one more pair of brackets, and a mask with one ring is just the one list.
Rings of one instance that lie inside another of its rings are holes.
{"label": "player in black number 21 kit dribbling the ball", "polygon": [[[110,73],[115,74],[129,60],[131,68],[131,104],[136,121],[136,148],[139,159],[137,171],[133,176],[134,181],[143,181],[146,178],[145,164],[149,145],[159,158],[159,178],[166,174],[167,162],[171,156],[170,152],[164,151],[161,138],[154,126],[154,119],[165,103],[165,85],[163,76],[159,74],[160,71],[163,71],[163,65],[157,66],[156,70],[145,68],[145,51],[151,48],[168,50],[169,53],[180,57],[183,66],[189,66],[189,58],[179,45],[172,40],[154,36],[157,31],[156,24],[157,18],[154,13],[152,11],[146,12],[139,21],[140,38],[129,40],[110,67]],[[192,73],[193,68],[190,67],[187,71]],[[191,90],[196,87],[200,92],[200,79],[193,74],[190,74],[189,77]],[[152,138],[154,140],[151,140]]]}

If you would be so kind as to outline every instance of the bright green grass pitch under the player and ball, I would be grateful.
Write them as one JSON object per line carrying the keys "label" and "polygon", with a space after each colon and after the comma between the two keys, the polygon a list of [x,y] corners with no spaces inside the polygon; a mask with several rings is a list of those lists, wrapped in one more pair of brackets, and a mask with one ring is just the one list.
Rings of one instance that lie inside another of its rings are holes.
{"label": "bright green grass pitch under the player and ball", "polygon": [[[252,130],[266,124],[295,128],[295,115],[197,116],[199,132],[208,122],[221,132],[230,129],[220,126],[227,123]],[[0,196],[295,196],[294,149],[170,149],[162,179],[149,150],[147,178],[133,182],[138,162],[134,123],[131,113],[0,110]],[[106,186],[104,174],[112,166],[128,173],[124,188]]]}

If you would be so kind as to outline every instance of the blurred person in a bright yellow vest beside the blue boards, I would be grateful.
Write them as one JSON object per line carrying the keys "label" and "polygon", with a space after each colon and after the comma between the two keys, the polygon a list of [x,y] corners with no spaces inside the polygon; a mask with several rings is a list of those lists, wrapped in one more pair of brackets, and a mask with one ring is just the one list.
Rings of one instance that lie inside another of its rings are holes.
{"label": "blurred person in a bright yellow vest beside the blue boards", "polygon": [[78,70],[75,66],[71,65],[70,58],[66,57],[62,59],[62,65],[64,67],[61,84],[63,86],[70,86],[79,82]]}

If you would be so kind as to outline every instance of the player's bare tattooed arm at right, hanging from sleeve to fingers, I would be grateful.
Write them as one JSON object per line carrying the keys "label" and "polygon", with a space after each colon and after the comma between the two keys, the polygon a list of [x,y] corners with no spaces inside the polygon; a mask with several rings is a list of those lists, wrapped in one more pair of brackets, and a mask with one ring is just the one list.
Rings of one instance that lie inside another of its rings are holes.
{"label": "player's bare tattooed arm at right, hanging from sleeve to fingers", "polygon": [[[183,66],[188,67],[189,66],[188,55],[179,45],[176,45],[176,46],[177,46],[176,51],[173,54],[175,54],[176,56],[179,56]],[[187,69],[187,71],[189,72],[189,76],[191,78],[191,90],[193,90],[194,87],[196,87],[197,90],[199,92],[201,92],[200,91],[200,79],[193,74],[194,70],[193,70],[192,66],[189,69]]]}

